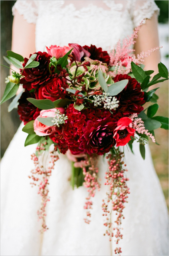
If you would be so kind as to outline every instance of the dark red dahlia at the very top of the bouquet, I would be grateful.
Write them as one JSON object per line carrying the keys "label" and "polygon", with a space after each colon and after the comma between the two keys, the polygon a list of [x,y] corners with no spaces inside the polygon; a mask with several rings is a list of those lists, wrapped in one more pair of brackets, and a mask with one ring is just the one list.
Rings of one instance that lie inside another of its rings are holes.
{"label": "dark red dahlia at the very top of the bouquet", "polygon": [[102,48],[96,48],[95,45],[92,45],[89,47],[87,45],[83,46],[83,48],[90,53],[90,59],[92,60],[100,60],[103,63],[109,64],[110,62],[110,56],[108,55],[108,52],[102,51]]}

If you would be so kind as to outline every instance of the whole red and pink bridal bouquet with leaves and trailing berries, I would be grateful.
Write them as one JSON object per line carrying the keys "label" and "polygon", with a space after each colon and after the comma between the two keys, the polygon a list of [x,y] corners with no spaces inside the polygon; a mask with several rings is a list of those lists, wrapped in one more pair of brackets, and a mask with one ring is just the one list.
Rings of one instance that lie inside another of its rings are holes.
{"label": "whole red and pink bridal bouquet with leaves and trailing berries", "polygon": [[[142,64],[144,57],[159,48],[142,52],[137,57],[130,48],[140,26],[141,23],[131,37],[124,39],[122,44],[119,41],[109,54],[95,45],[77,43],[65,47],[51,45],[47,52],[30,54],[29,59],[7,52],[5,60],[20,72],[12,72],[1,103],[14,97],[19,84],[23,85],[23,91],[13,99],[9,111],[18,105],[18,114],[25,125],[23,131],[28,134],[25,146],[38,143],[36,153],[31,156],[35,169],[29,178],[33,179],[31,184],[38,182],[38,193],[42,197],[38,211],[42,231],[47,229],[45,206],[49,201],[49,177],[59,159],[58,153],[65,154],[69,150],[81,156],[80,167],[74,167],[73,163],[71,184],[73,188],[87,187],[84,206],[87,223],[92,209],[91,198],[100,188],[98,155],[108,159],[104,183],[108,191],[101,206],[105,234],[111,241],[116,230],[117,244],[123,236],[120,225],[130,192],[120,146],[127,144],[132,151],[132,143],[136,140],[144,159],[148,137],[155,142],[154,130],[168,129],[168,118],[155,115],[159,107],[155,94],[158,88],[148,90],[151,85],[168,79],[167,68],[159,63],[159,73],[152,77],[154,71],[144,71]],[[146,102],[150,105],[144,109]],[[40,157],[52,144],[49,166],[44,167]],[[112,227],[112,211],[116,211],[117,216],[115,227]],[[115,253],[120,254],[121,248],[116,248]]]}

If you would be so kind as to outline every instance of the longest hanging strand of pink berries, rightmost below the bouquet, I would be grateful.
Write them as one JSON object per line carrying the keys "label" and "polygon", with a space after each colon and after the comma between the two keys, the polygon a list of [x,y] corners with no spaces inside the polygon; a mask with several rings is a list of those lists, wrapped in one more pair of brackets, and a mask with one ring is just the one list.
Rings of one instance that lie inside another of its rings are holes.
{"label": "longest hanging strand of pink berries, rightmost below the bouquet", "polygon": [[[127,169],[123,168],[124,164],[124,153],[120,152],[119,149],[114,149],[112,154],[106,156],[108,159],[108,171],[105,172],[106,182],[104,185],[109,185],[110,188],[107,192],[107,198],[102,203],[102,209],[104,211],[103,216],[106,216],[106,222],[104,225],[107,227],[106,232],[110,238],[109,241],[112,241],[112,237],[114,236],[116,230],[116,244],[119,243],[120,239],[122,239],[123,235],[120,232],[120,225],[123,216],[123,209],[125,208],[124,203],[127,202],[129,188],[127,187],[126,181],[129,180],[128,178],[124,177],[124,172]],[[110,202],[112,205],[110,205]],[[112,225],[112,211],[116,211],[117,218],[114,221],[116,223],[116,227]],[[119,254],[122,252],[121,248],[115,248],[115,254]]]}

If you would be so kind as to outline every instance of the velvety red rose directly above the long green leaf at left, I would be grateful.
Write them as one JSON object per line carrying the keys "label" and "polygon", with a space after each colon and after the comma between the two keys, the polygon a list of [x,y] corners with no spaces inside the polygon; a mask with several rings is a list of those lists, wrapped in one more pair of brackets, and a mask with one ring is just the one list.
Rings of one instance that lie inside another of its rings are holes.
{"label": "velvety red rose directly above the long green leaf at left", "polygon": [[65,90],[61,88],[66,87],[66,79],[54,77],[45,82],[38,90],[38,98],[40,100],[49,99],[56,101],[60,98],[65,98]]}

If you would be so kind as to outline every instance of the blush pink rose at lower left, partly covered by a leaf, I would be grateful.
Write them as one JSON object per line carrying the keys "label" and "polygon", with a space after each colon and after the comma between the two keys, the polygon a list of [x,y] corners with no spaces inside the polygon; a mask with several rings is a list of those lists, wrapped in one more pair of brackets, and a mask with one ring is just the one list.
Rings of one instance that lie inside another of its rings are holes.
{"label": "blush pink rose at lower left, partly covered by a leaf", "polygon": [[[59,109],[59,111],[61,112],[61,114],[65,113],[65,109],[64,108],[57,108]],[[56,109],[47,109],[47,110],[41,110],[40,115],[37,117],[42,117],[42,118],[46,118],[46,117],[54,117],[55,116],[55,111]],[[55,127],[51,127],[51,126],[47,126],[42,124],[41,122],[39,122],[37,120],[37,118],[35,119],[33,126],[34,126],[34,131],[38,136],[45,136],[45,135],[49,135],[55,132]],[[50,128],[50,130],[49,130]]]}

